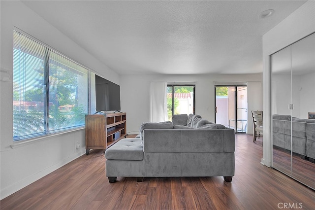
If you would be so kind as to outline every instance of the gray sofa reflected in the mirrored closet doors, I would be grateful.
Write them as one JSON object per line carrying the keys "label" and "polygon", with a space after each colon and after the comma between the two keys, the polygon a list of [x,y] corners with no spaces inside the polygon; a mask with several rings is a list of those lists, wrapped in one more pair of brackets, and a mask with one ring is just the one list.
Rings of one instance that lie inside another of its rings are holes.
{"label": "gray sofa reflected in the mirrored closet doors", "polygon": [[[291,116],[273,115],[273,145],[291,150]],[[292,117],[292,152],[315,159],[315,119]]]}

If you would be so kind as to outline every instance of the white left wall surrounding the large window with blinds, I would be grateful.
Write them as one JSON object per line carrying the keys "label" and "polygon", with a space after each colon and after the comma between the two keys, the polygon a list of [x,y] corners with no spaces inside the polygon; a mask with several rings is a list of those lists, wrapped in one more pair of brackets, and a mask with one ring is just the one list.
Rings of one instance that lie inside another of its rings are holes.
{"label": "white left wall surrounding the large window with blinds", "polygon": [[[69,58],[119,84],[117,73],[108,69],[20,1],[0,1],[0,15],[0,68],[1,71],[7,71],[11,78],[13,69],[13,28],[15,26]],[[0,81],[1,199],[85,154],[84,129],[11,148],[13,144],[12,95],[12,79]],[[74,148],[76,141],[81,144],[79,150]]]}

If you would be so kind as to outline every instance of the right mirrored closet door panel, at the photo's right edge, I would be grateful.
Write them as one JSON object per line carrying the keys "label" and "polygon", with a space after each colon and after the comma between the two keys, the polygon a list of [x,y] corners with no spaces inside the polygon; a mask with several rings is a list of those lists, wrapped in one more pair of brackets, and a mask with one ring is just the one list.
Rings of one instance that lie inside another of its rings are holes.
{"label": "right mirrored closet door panel, at the photo's right edge", "polygon": [[[315,188],[315,35],[292,44],[292,177]],[[294,89],[293,89],[294,88]]]}

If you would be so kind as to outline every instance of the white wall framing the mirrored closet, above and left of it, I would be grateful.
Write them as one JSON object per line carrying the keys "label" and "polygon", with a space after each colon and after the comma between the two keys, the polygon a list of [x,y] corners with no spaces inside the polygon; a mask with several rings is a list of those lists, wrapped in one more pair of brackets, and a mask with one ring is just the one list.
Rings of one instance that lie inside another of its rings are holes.
{"label": "white wall framing the mirrored closet, above and left of it", "polygon": [[263,48],[263,157],[271,166],[271,96],[269,55],[315,32],[315,1],[307,1],[262,37]]}

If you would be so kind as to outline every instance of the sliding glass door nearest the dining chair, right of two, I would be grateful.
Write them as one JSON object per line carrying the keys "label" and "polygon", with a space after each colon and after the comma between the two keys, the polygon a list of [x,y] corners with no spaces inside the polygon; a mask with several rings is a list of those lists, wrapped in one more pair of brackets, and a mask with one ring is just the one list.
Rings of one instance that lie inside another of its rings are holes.
{"label": "sliding glass door nearest the dining chair, right of two", "polygon": [[235,133],[247,131],[247,86],[216,85],[216,123],[233,128]]}

